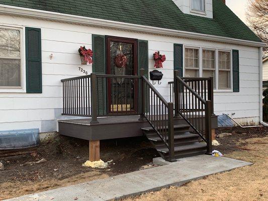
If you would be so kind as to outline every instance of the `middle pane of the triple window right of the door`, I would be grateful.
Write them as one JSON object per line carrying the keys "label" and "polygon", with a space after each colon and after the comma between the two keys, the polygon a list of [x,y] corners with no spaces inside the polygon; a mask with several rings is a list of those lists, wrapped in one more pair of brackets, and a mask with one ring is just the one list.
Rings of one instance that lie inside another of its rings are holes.
{"label": "middle pane of the triple window right of the door", "polygon": [[216,67],[215,67],[215,51],[204,50],[202,51],[202,77],[213,77],[213,86],[216,88]]}

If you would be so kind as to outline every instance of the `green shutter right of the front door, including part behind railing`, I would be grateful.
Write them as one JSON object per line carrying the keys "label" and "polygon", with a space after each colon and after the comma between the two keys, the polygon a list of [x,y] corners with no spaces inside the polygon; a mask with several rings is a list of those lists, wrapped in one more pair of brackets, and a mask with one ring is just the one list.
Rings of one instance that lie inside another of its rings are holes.
{"label": "green shutter right of the front door, including part behind railing", "polygon": [[[138,75],[140,69],[144,69],[144,75],[148,79],[149,74],[149,64],[148,64],[148,41],[138,40]],[[139,87],[140,88],[140,87]],[[145,112],[147,112],[149,105],[149,88],[145,87]],[[140,100],[141,103],[141,100]]]}

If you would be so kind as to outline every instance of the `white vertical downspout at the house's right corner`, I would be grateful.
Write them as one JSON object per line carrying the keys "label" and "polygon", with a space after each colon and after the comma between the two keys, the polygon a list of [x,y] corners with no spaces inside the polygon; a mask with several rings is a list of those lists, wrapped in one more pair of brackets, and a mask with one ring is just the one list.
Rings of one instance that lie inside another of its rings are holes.
{"label": "white vertical downspout at the house's right corner", "polygon": [[259,123],[268,126],[262,121],[262,47],[259,48]]}

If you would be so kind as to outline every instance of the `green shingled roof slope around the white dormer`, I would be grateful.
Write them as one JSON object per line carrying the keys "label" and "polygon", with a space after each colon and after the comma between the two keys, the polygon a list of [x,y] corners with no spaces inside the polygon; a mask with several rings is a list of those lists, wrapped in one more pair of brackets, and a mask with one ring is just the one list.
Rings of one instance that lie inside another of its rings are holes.
{"label": "green shingled roof slope around the white dormer", "polygon": [[213,19],[184,14],[172,0],[0,0],[0,4],[261,42],[222,0],[213,0]]}

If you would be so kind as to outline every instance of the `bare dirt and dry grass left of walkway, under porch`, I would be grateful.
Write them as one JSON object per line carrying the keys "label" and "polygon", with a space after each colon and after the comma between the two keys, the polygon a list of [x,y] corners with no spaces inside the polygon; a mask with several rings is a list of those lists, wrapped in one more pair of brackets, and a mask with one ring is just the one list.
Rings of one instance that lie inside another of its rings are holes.
{"label": "bare dirt and dry grass left of walkway, under porch", "polygon": [[[107,140],[101,141],[101,158],[113,160],[109,166],[83,167],[88,141],[58,136],[30,153],[10,157],[0,153],[5,167],[0,171],[0,200],[150,168],[154,157],[158,153],[145,138]],[[44,162],[36,163],[41,159]]]}

